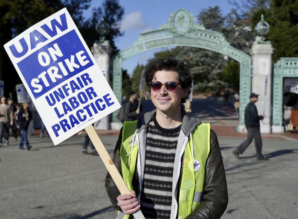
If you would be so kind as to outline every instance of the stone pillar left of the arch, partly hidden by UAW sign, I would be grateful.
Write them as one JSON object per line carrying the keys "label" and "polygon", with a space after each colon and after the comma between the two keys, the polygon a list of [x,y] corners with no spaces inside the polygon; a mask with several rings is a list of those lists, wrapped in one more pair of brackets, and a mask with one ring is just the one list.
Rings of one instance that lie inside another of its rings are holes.
{"label": "stone pillar left of the arch, partly hidden by UAW sign", "polygon": [[[105,41],[103,43],[101,42],[95,42],[93,43],[93,47],[91,47],[91,52],[99,65],[100,69],[102,70],[102,73],[105,74],[106,80],[111,86],[110,83],[110,56],[112,53],[112,48],[108,41]],[[98,74],[102,74],[99,72]],[[97,122],[95,122],[94,128],[95,129],[101,129],[106,130],[110,128],[109,123],[109,115],[101,118]]]}

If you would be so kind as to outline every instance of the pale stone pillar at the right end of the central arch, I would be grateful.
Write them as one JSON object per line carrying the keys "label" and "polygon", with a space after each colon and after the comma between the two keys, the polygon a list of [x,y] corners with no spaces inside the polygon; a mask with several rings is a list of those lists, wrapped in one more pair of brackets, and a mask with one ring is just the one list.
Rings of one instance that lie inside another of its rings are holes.
{"label": "pale stone pillar at the right end of the central arch", "polygon": [[265,118],[260,121],[261,133],[271,132],[273,52],[271,44],[254,44],[250,50],[253,65],[251,92],[260,95],[255,105],[259,115],[265,114]]}

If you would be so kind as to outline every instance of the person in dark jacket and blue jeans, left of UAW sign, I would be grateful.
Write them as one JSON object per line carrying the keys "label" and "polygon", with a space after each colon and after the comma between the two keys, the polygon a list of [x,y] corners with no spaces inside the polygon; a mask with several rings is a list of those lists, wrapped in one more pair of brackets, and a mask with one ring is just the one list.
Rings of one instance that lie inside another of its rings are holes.
{"label": "person in dark jacket and blue jeans, left of UAW sign", "polygon": [[28,141],[28,126],[29,122],[32,119],[32,114],[31,111],[29,110],[29,105],[28,103],[24,102],[20,106],[20,111],[18,113],[18,124],[21,130],[21,140],[20,140],[20,149],[24,149],[23,145],[25,143],[27,150],[30,150],[32,148],[31,145],[29,145]]}

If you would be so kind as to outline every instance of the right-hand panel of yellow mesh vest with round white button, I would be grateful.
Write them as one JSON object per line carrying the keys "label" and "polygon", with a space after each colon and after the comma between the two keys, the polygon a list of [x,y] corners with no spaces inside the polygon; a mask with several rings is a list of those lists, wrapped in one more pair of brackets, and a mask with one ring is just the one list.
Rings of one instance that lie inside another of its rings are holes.
{"label": "right-hand panel of yellow mesh vest with round white button", "polygon": [[[200,168],[194,170],[191,141],[184,150],[184,163],[179,192],[178,219],[187,217],[202,201],[206,161],[210,152],[210,124],[201,123],[192,133],[194,159]],[[197,165],[197,164],[196,164]]]}

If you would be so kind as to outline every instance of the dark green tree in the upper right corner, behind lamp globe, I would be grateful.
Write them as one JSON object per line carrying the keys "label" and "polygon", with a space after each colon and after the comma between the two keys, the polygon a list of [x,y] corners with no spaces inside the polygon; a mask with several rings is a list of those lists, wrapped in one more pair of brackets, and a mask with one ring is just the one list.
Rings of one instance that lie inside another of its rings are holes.
{"label": "dark green tree in the upper right corner, behind lamp globe", "polygon": [[280,57],[298,57],[298,2],[272,0],[270,8],[260,8],[253,14],[252,27],[260,21],[261,14],[270,25],[266,40],[275,48],[273,62]]}

